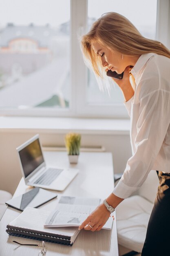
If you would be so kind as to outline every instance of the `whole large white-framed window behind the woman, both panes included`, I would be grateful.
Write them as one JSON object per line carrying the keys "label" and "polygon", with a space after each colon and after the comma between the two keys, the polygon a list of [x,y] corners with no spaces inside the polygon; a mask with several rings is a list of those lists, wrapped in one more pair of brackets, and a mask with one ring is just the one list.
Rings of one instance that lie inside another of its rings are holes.
{"label": "whole large white-framed window behind the woman, both panes included", "polygon": [[144,36],[170,43],[170,0],[0,3],[1,115],[128,117],[117,85],[110,96],[99,90],[77,40],[102,13],[118,12]]}

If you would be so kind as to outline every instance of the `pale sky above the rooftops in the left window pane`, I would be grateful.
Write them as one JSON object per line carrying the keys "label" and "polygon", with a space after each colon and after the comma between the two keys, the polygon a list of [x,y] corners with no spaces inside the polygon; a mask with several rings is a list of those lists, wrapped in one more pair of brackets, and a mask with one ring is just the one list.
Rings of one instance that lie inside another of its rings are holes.
{"label": "pale sky above the rooftops in the left window pane", "polygon": [[56,27],[70,20],[69,0],[0,0],[0,27],[15,25],[46,25]]}

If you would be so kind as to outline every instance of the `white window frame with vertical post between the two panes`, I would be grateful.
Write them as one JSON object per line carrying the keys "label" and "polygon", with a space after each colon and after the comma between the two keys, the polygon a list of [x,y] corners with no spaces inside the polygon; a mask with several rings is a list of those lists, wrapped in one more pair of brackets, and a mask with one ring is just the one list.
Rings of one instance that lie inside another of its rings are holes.
{"label": "white window frame with vertical post between the two panes", "polygon": [[[82,58],[79,37],[87,31],[88,0],[71,0],[70,4],[71,100],[69,108],[0,109],[1,116],[128,118],[123,104],[88,105],[86,102],[87,68]],[[170,0],[157,0],[156,39],[170,49],[168,31],[170,31]]]}

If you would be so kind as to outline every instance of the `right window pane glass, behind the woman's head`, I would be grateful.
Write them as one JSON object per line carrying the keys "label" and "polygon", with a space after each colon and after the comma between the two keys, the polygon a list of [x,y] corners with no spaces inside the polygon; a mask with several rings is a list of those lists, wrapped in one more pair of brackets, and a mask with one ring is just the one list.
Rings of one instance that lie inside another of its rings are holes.
{"label": "right window pane glass, behind the woman's head", "polygon": [[[97,18],[110,11],[128,18],[143,36],[156,38],[157,0],[88,0],[88,30]],[[88,104],[110,105],[124,101],[117,85],[110,88],[110,96],[107,91],[100,91],[93,72],[89,70],[86,95]]]}

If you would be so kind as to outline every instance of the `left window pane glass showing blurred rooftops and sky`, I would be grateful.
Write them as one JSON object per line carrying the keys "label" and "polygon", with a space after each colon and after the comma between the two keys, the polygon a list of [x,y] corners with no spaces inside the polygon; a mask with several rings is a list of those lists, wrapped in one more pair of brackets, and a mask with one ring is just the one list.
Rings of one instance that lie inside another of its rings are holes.
{"label": "left window pane glass showing blurred rooftops and sky", "polygon": [[0,108],[68,108],[70,1],[0,0]]}

